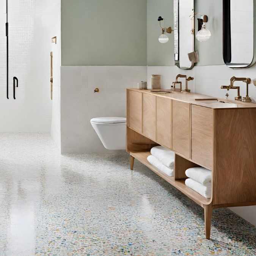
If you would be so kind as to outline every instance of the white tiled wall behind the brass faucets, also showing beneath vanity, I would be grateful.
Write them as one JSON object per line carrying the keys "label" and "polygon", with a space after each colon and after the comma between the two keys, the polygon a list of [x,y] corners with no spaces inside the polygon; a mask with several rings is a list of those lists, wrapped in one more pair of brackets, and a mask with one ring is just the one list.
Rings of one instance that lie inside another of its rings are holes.
{"label": "white tiled wall behind the brass faucets, also showing beneath vanity", "polygon": [[[248,69],[230,69],[225,65],[219,66],[195,66],[192,70],[181,70],[174,66],[148,66],[148,84],[150,85],[151,74],[162,75],[162,88],[170,89],[171,83],[175,80],[177,74],[187,74],[195,77],[194,91],[195,93],[202,93],[214,97],[225,98],[225,94],[229,93],[229,98],[234,99],[237,90],[223,90],[220,89],[221,85],[229,85],[230,78],[236,77],[250,77],[252,80],[256,79],[256,65]],[[190,81],[193,83],[193,81]],[[235,82],[235,85],[240,86],[240,94],[246,95],[245,83]],[[185,82],[183,82],[183,88]],[[188,86],[192,89],[193,85],[190,83]],[[192,90],[191,90],[192,91]],[[253,102],[256,102],[256,87],[249,85],[249,96]],[[256,206],[246,207],[231,207],[232,211],[236,212],[245,220],[256,226]]]}

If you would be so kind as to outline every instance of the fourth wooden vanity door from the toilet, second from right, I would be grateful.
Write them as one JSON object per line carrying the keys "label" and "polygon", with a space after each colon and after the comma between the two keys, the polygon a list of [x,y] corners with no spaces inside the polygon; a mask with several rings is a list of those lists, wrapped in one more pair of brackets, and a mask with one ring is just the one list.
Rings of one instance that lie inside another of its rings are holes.
{"label": "fourth wooden vanity door from the toilet, second from right", "polygon": [[173,101],[173,150],[190,158],[189,103]]}

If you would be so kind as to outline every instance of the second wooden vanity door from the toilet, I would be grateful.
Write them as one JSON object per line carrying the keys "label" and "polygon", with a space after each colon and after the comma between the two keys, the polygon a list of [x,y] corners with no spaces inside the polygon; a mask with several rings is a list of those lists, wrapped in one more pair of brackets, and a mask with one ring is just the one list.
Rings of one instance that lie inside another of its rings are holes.
{"label": "second wooden vanity door from the toilet", "polygon": [[156,140],[156,96],[143,93],[143,135]]}

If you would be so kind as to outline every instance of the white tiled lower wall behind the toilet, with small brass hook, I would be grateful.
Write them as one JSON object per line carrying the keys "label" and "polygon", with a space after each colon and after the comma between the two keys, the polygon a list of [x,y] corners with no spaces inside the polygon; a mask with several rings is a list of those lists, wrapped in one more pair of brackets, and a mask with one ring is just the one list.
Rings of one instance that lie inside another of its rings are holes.
{"label": "white tiled lower wall behind the toilet, with small brass hook", "polygon": [[90,119],[126,117],[126,88],[146,78],[146,66],[61,66],[61,153],[115,152],[104,148]]}

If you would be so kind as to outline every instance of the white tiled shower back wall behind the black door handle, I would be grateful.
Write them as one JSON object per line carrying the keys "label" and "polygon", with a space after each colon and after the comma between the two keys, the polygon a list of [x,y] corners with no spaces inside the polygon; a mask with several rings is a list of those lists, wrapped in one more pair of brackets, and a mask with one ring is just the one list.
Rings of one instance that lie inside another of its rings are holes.
{"label": "white tiled shower back wall behind the black door handle", "polygon": [[[0,0],[0,132],[50,132],[50,0],[9,0],[9,100],[5,0]],[[13,99],[13,77],[19,79]]]}

